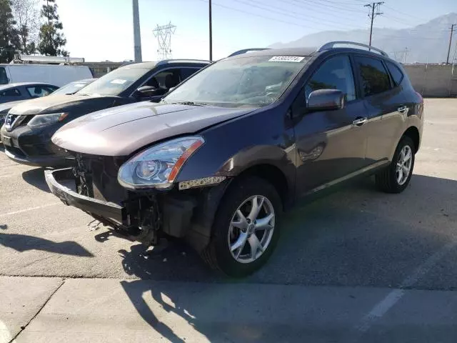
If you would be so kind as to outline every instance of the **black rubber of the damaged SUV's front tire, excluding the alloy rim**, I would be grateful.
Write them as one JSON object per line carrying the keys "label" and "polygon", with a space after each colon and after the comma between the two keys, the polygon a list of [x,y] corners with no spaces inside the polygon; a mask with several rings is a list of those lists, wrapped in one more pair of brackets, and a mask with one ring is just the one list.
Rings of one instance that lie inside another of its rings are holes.
{"label": "black rubber of the damaged SUV's front tire, excluding the alloy rim", "polygon": [[[275,222],[273,236],[263,254],[250,263],[241,263],[232,256],[229,248],[229,227],[233,214],[243,202],[254,195],[266,197],[273,206]],[[246,177],[234,180],[227,190],[216,212],[212,227],[211,242],[202,252],[205,262],[212,268],[219,269],[230,277],[245,277],[252,274],[266,263],[278,244],[279,225],[282,212],[281,197],[272,184],[258,177]]]}

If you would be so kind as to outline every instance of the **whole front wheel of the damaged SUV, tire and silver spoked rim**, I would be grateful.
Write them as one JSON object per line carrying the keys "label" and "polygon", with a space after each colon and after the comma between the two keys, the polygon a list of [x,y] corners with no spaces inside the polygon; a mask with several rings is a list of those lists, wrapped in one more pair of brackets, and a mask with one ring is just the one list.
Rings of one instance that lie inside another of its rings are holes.
{"label": "whole front wheel of the damaged SUV, tire and silver spoked rim", "polygon": [[230,277],[255,272],[278,243],[281,212],[273,185],[258,177],[235,180],[219,205],[204,259]]}

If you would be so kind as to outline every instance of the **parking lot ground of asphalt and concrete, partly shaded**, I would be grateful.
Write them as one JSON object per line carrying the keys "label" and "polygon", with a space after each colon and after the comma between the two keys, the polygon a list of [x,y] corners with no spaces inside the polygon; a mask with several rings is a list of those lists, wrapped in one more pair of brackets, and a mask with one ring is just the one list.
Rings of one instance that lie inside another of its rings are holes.
{"label": "parking lot ground of asphalt and concrete, partly shaded", "polygon": [[425,116],[405,192],[364,179],[294,209],[242,280],[97,227],[0,145],[0,342],[456,342],[457,99]]}

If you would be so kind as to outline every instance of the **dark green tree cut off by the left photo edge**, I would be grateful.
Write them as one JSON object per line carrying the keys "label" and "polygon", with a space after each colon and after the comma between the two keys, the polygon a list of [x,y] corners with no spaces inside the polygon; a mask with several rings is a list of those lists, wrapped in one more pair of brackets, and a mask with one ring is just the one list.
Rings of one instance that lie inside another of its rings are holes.
{"label": "dark green tree cut off by the left photo edge", "polygon": [[0,63],[8,63],[21,48],[9,0],[0,0]]}

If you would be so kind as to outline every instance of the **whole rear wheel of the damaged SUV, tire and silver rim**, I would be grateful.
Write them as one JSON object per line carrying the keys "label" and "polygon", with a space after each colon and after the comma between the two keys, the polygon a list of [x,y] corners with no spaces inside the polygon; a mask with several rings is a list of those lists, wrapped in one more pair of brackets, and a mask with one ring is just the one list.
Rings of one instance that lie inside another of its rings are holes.
{"label": "whole rear wheel of the damaged SUV, tire and silver rim", "polygon": [[[407,156],[409,159],[406,159]],[[414,148],[413,140],[408,136],[403,136],[398,142],[391,164],[386,169],[381,170],[375,176],[378,189],[386,193],[401,193],[408,187],[414,168]],[[409,167],[409,168],[408,168]],[[406,170],[408,174],[405,177]]]}

